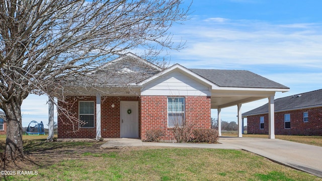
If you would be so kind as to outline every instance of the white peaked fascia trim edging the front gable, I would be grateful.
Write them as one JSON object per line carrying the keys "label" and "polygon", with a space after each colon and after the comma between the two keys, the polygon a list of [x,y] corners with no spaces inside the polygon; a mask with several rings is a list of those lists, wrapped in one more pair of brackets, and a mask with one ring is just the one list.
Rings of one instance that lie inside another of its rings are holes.
{"label": "white peaked fascia trim edging the front gable", "polygon": [[214,86],[217,86],[214,83],[212,83],[211,81],[209,81],[209,80],[201,77],[200,75],[192,72],[191,70],[187,69],[186,67],[184,67],[184,66],[182,66],[180,64],[175,64],[175,65],[173,65],[173,66],[165,69],[164,71],[159,72],[159,73],[157,73],[157,74],[155,74],[155,75],[153,75],[153,76],[151,76],[151,77],[149,77],[149,78],[147,78],[147,79],[145,79],[145,80],[137,83],[137,85],[144,85],[144,84],[146,84],[146,83],[148,83],[150,81],[153,81],[154,79],[156,79],[158,77],[161,77],[161,76],[163,76],[163,75],[165,75],[165,74],[167,74],[169,72],[175,71],[176,69],[179,70],[179,71],[181,71],[185,75],[190,76],[193,79],[195,79],[195,80],[197,80],[197,81],[199,81],[199,82],[201,82],[203,84],[208,85],[210,88],[212,88]]}

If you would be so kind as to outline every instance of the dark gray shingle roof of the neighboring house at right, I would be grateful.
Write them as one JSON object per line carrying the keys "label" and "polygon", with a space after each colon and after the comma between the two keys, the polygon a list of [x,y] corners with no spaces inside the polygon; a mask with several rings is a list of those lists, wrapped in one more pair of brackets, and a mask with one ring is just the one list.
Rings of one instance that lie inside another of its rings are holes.
{"label": "dark gray shingle roof of the neighboring house at right", "polygon": [[[275,112],[290,109],[301,109],[319,105],[322,106],[322,89],[274,100]],[[243,113],[242,115],[249,116],[266,113],[268,113],[268,104]]]}

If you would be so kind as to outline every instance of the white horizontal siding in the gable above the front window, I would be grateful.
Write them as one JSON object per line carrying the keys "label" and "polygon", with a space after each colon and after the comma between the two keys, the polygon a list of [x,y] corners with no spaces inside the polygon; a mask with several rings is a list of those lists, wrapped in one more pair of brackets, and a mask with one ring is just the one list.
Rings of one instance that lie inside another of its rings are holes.
{"label": "white horizontal siding in the gable above the front window", "polygon": [[142,96],[211,96],[210,88],[189,76],[172,71],[143,85]]}

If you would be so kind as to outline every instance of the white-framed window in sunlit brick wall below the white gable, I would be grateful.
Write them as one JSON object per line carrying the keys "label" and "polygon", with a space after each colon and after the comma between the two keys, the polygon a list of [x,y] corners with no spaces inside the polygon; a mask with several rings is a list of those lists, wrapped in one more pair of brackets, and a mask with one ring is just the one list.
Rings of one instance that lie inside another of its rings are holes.
{"label": "white-framed window in sunlit brick wall below the white gable", "polygon": [[168,98],[168,127],[182,126],[185,120],[185,98]]}

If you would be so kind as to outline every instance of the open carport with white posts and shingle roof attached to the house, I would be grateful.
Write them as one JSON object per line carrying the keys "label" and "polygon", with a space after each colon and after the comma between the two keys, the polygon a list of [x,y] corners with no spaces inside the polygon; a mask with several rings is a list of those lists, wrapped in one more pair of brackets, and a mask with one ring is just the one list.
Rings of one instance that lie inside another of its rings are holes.
{"label": "open carport with white posts and shingle roof attached to the house", "polygon": [[268,99],[269,138],[274,133],[274,97],[276,92],[288,92],[289,87],[247,70],[190,69],[211,81],[211,109],[218,110],[218,132],[221,136],[221,109],[237,106],[238,137],[243,137],[241,106],[245,103]]}

